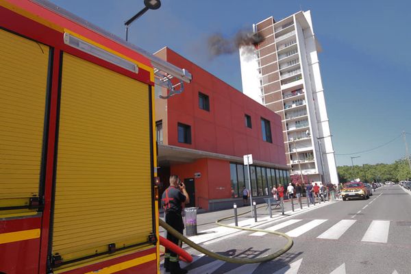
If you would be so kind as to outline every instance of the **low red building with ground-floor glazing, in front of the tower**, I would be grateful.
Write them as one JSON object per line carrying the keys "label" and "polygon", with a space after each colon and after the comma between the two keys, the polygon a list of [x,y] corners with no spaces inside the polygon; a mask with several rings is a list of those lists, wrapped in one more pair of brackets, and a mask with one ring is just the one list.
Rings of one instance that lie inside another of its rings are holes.
{"label": "low red building with ground-floor glazing, in front of the tower", "polygon": [[[269,195],[272,186],[288,181],[279,115],[167,47],[155,55],[192,73],[184,92],[155,99],[164,188],[169,174],[176,174],[186,182],[190,206],[206,210],[232,206],[242,186],[249,188],[242,166],[246,154],[253,155],[253,195]],[[166,93],[160,87],[156,91]]]}

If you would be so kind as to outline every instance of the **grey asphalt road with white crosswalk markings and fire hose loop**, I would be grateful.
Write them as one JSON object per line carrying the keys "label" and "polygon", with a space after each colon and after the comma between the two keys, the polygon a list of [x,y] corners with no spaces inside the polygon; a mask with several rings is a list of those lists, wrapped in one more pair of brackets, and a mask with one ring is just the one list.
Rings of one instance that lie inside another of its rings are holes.
{"label": "grey asphalt road with white crosswalk markings and fire hose loop", "polygon": [[[294,239],[283,256],[261,264],[229,264],[188,249],[189,273],[411,273],[411,192],[384,186],[368,200],[338,201],[316,210],[266,223]],[[260,228],[260,227],[259,227]],[[243,232],[205,243],[229,256],[264,256],[284,245],[269,234]]]}

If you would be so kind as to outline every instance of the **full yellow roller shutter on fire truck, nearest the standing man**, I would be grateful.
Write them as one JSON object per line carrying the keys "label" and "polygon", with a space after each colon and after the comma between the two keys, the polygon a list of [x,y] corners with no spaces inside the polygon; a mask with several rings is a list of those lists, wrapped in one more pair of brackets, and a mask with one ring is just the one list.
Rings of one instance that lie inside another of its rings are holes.
{"label": "full yellow roller shutter on fire truck, nearest the standing man", "polygon": [[153,232],[149,88],[64,53],[53,255],[147,242]]}

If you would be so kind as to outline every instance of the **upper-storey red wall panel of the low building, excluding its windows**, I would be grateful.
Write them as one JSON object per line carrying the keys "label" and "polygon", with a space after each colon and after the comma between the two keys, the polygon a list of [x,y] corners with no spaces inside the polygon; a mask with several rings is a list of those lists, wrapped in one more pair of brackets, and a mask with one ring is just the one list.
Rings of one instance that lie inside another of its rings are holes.
{"label": "upper-storey red wall panel of the low building, excluding its windows", "polygon": [[[171,49],[165,50],[166,61],[192,73],[184,92],[168,100],[169,145],[238,157],[252,153],[255,160],[286,165],[279,115]],[[199,92],[209,96],[210,112],[199,108]],[[245,126],[245,114],[251,116],[252,129]],[[262,140],[261,118],[271,123],[272,143]],[[191,126],[191,145],[177,142],[177,122]]]}

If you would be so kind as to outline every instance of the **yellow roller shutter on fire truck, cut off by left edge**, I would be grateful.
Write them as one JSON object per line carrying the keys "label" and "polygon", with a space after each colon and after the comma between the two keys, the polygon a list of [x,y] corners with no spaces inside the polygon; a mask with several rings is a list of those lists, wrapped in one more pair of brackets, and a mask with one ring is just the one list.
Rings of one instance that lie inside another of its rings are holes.
{"label": "yellow roller shutter on fire truck, cut off by left edge", "polygon": [[49,47],[0,29],[0,208],[38,196],[48,62]]}

